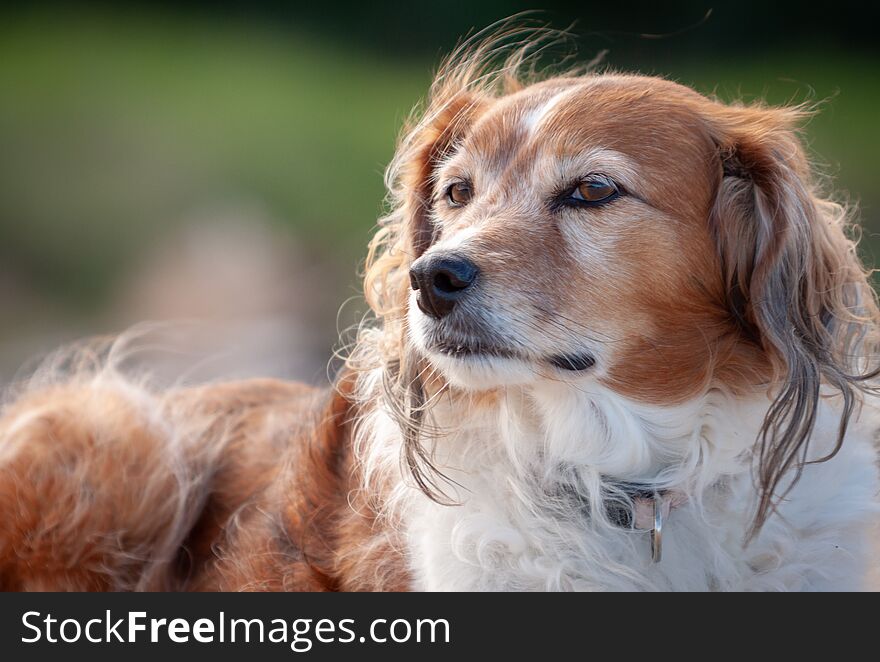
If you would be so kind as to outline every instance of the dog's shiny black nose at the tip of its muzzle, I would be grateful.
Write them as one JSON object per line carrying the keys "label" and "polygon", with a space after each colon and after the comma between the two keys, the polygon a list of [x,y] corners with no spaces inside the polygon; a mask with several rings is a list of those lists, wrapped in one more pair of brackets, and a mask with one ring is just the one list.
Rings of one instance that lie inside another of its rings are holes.
{"label": "dog's shiny black nose at the tip of its muzzle", "polygon": [[418,290],[419,308],[426,315],[440,319],[448,315],[480,270],[477,265],[455,253],[426,255],[413,262],[409,281]]}

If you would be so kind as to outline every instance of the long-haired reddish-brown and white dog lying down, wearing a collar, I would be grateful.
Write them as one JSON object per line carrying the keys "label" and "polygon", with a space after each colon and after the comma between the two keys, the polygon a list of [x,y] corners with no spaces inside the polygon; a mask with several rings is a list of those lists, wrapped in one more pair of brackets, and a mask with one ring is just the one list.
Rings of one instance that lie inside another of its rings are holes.
{"label": "long-haired reddish-brown and white dog lying down, wearing a collar", "polygon": [[867,588],[875,294],[802,107],[440,68],[332,387],[112,361],[0,420],[4,590]]}

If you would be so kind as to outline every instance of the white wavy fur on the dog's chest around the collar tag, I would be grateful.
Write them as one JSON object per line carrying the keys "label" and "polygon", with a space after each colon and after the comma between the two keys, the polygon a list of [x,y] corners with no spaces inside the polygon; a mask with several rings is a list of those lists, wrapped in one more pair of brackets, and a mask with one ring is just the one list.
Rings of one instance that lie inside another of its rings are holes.
{"label": "white wavy fur on the dog's chest around the collar tag", "polygon": [[[552,387],[551,387],[552,388]],[[444,506],[408,490],[405,527],[417,588],[428,590],[854,589],[866,571],[878,494],[866,419],[841,452],[809,465],[757,538],[745,544],[756,498],[749,449],[763,411],[720,393],[674,408],[609,392],[511,392],[462,421],[462,403],[435,410],[450,432],[438,465],[459,487]],[[818,456],[834,439],[827,403]],[[663,560],[649,534],[597,515],[609,476],[685,489],[664,527]],[[553,486],[565,483],[565,491]],[[572,490],[579,498],[571,498]],[[584,503],[599,504],[593,510]],[[591,516],[591,512],[594,516]]]}

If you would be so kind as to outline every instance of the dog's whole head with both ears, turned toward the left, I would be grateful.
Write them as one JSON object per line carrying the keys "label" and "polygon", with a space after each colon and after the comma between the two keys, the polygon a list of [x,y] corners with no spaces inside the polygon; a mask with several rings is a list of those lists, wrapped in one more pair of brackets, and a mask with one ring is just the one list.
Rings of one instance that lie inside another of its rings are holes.
{"label": "dog's whole head with both ears, turned toward the left", "polygon": [[594,380],[661,405],[769,392],[766,516],[820,386],[845,426],[877,315],[802,112],[643,76],[492,78],[478,59],[441,72],[405,133],[367,273],[403,409],[425,368],[457,389]]}

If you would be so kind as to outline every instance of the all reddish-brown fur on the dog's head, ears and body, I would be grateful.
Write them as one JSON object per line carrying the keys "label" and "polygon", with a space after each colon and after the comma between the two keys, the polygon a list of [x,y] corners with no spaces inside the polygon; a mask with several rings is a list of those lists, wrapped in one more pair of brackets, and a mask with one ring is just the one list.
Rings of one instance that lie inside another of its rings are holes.
{"label": "all reddish-brown fur on the dog's head, ears and body", "polygon": [[[643,77],[508,77],[493,89],[475,63],[483,51],[441,74],[399,146],[395,208],[365,282],[381,333],[356,354],[372,364],[352,361],[333,392],[256,381],[156,395],[96,380],[24,396],[0,419],[0,588],[406,589],[402,543],[354,456],[353,422],[375,406],[355,397],[355,373],[387,378],[417,469],[415,412],[446,384],[418,377],[407,274],[465,229],[462,250],[479,257],[490,294],[547,337],[560,320],[602,335],[601,379],[624,396],[671,404],[710,383],[773,386],[808,412],[805,384],[855,388],[842,337],[859,315],[873,329],[877,311],[843,216],[814,193],[796,112],[724,106]],[[523,117],[575,88],[531,140]],[[632,164],[631,195],[560,221],[541,177],[597,147]],[[464,212],[435,204],[444,168],[474,179]],[[613,259],[584,264],[573,232],[607,241]],[[809,433],[808,416],[786,428],[785,414],[768,416],[760,446],[763,515]]]}

